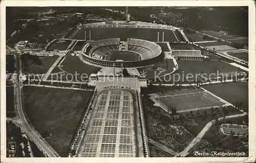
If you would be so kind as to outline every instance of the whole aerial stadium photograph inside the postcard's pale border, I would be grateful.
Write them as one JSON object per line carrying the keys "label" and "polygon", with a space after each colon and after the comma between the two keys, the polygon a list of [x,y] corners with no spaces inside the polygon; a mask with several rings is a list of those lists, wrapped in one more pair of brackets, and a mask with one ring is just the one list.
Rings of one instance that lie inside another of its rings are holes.
{"label": "whole aerial stadium photograph inside the postcard's pale border", "polygon": [[248,157],[248,56],[248,6],[6,7],[6,156]]}

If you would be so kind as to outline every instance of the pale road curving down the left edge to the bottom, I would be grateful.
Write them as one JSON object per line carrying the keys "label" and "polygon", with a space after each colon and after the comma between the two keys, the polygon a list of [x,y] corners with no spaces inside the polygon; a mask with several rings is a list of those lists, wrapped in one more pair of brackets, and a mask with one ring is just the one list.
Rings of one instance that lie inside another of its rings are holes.
{"label": "pale road curving down the left edge to the bottom", "polygon": [[[19,58],[19,54],[17,53],[15,55],[15,60],[16,60],[16,67],[19,74],[22,73],[22,69],[21,69],[21,64],[20,63],[20,58]],[[23,108],[22,108],[22,96],[21,96],[21,90],[20,90],[20,80],[19,78],[17,78],[17,81],[14,83],[14,88],[16,89],[16,103],[17,103],[17,113],[18,113],[18,117],[19,119],[14,120],[13,122],[17,125],[20,126],[20,128],[22,128],[23,130],[26,131],[26,133],[28,133],[28,135],[30,135],[33,138],[33,142],[35,142],[36,144],[39,144],[40,147],[48,154],[48,156],[50,157],[56,157],[55,155],[55,151],[49,147],[48,144],[46,144],[42,138],[40,138],[40,135],[38,135],[28,124],[24,112],[23,112]],[[56,153],[57,154],[57,153]]]}

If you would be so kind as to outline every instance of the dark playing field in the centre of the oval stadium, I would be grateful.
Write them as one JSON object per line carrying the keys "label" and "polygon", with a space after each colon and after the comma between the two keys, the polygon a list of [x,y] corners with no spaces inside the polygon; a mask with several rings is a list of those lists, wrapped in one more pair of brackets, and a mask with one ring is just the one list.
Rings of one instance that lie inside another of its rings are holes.
{"label": "dark playing field in the centre of the oval stadium", "polygon": [[141,57],[136,52],[133,51],[112,51],[108,53],[106,57],[108,61],[116,61],[116,60],[123,60],[123,61],[140,61]]}

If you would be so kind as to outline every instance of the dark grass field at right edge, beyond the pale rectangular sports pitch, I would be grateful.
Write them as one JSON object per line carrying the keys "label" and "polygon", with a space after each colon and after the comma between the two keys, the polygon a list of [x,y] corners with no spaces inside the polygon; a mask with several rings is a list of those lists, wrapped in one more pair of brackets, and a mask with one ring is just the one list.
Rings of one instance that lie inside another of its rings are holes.
{"label": "dark grass field at right edge, beyond the pale rectangular sports pitch", "polygon": [[248,107],[248,83],[225,83],[203,86],[206,90],[230,102],[242,102]]}

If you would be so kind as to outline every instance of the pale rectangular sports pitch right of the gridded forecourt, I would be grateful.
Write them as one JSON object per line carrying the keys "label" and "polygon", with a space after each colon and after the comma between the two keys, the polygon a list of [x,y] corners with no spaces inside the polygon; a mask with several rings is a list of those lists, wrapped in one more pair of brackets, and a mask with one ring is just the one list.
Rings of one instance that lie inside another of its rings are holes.
{"label": "pale rectangular sports pitch right of the gridded forecourt", "polygon": [[167,107],[176,107],[177,111],[186,111],[194,108],[219,106],[224,103],[206,92],[190,92],[158,97],[157,100]]}

